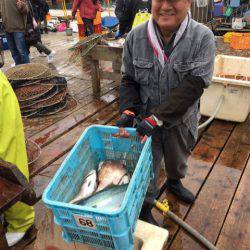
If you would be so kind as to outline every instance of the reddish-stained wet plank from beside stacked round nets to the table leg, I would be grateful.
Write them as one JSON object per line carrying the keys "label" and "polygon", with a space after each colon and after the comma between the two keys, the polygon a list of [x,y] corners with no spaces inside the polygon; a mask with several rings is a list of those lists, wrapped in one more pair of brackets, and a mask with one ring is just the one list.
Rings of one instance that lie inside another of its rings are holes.
{"label": "reddish-stained wet plank from beside stacked round nets to the table leg", "polygon": [[61,119],[41,132],[35,134],[31,137],[31,140],[44,147],[117,100],[117,91],[112,91],[104,95],[100,100],[94,100],[86,106],[76,110],[70,116]]}

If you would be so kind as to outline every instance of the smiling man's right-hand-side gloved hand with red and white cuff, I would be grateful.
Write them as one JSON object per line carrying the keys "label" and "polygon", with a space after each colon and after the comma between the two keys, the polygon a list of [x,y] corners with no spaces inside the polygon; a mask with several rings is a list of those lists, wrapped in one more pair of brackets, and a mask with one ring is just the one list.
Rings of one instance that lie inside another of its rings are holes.
{"label": "smiling man's right-hand-side gloved hand with red and white cuff", "polygon": [[159,120],[155,116],[151,115],[137,125],[136,131],[142,143],[154,133],[155,129],[158,127],[158,121]]}

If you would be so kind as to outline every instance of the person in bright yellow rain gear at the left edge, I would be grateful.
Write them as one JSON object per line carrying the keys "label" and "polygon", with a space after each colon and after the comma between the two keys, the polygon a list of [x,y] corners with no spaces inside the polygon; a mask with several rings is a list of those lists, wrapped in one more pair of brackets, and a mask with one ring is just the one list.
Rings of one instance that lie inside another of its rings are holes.
{"label": "person in bright yellow rain gear at the left edge", "polygon": [[[1,66],[3,66],[3,54],[0,54]],[[19,104],[10,83],[1,70],[0,158],[16,165],[29,180],[28,160]],[[6,240],[11,247],[22,240],[25,233],[34,224],[34,208],[22,202],[17,202],[4,212],[4,219],[8,223]]]}

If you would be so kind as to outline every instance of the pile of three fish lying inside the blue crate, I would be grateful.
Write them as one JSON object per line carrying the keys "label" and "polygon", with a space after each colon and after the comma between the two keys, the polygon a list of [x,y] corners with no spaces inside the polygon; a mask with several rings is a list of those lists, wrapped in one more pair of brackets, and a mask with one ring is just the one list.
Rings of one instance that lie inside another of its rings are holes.
{"label": "pile of three fish lying inside the blue crate", "polygon": [[129,181],[130,174],[121,161],[100,162],[98,171],[93,169],[85,176],[79,193],[70,203],[114,210],[121,205]]}

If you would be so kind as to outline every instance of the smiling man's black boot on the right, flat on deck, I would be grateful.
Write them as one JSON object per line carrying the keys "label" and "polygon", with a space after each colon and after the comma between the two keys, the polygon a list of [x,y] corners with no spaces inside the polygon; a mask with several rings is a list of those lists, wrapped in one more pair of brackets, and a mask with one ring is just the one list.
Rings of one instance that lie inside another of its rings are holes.
{"label": "smiling man's black boot on the right, flat on deck", "polygon": [[168,179],[166,182],[166,188],[181,201],[188,204],[192,204],[195,201],[195,196],[182,185],[180,180]]}

